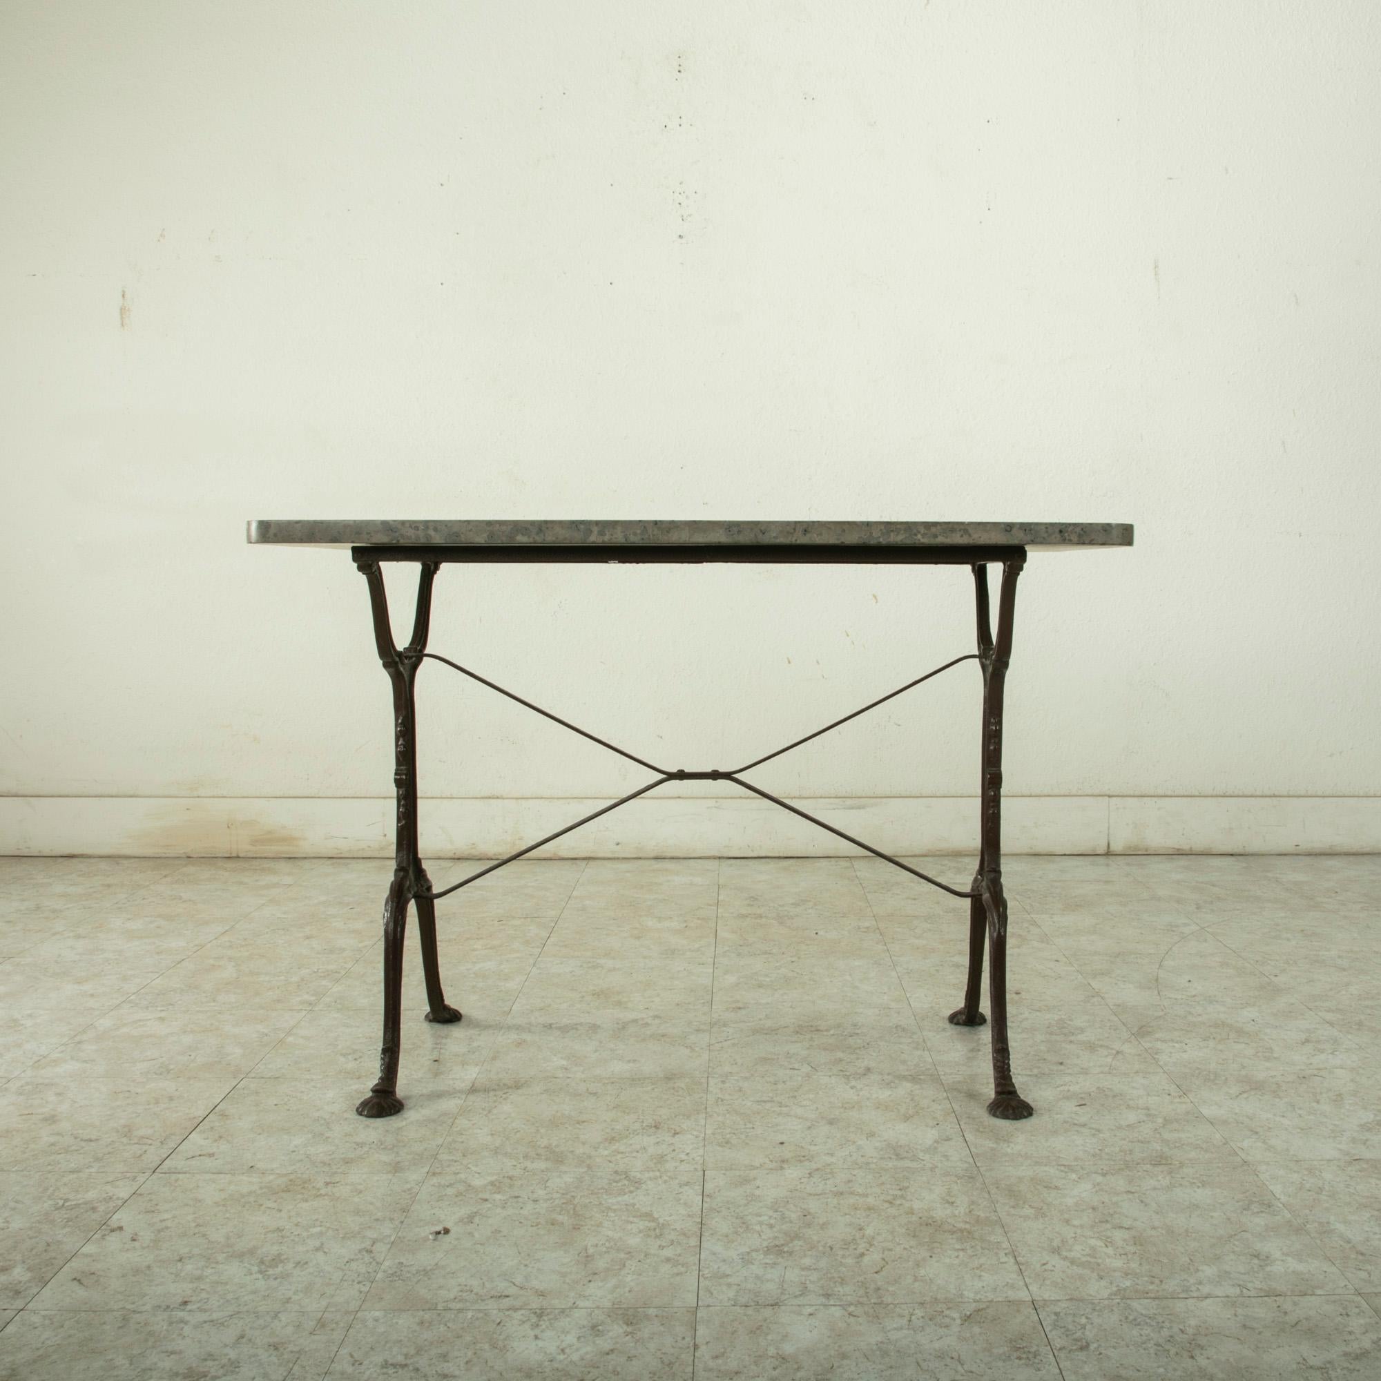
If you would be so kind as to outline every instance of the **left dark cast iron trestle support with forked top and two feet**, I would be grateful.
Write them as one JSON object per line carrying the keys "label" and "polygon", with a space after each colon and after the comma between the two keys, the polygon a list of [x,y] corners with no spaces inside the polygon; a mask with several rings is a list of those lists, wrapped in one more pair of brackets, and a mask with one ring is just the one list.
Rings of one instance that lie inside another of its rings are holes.
{"label": "left dark cast iron trestle support with forked top and two feet", "polygon": [[388,621],[388,595],[377,561],[358,563],[369,581],[369,602],[374,616],[374,644],[378,659],[394,689],[394,789],[398,816],[394,831],[394,882],[384,906],[384,1041],[378,1061],[378,1081],[369,1098],[355,1109],[362,1117],[392,1117],[403,1110],[398,1097],[398,1052],[402,1044],[403,936],[407,929],[407,906],[417,903],[417,927],[421,936],[423,971],[427,979],[427,1003],[432,1021],[456,1022],[460,1012],[446,1005],[436,963],[436,910],[427,894],[431,885],[417,856],[417,706],[413,684],[431,623],[431,587],[436,562],[420,563],[417,577],[417,612],[413,635],[405,648],[394,642]]}

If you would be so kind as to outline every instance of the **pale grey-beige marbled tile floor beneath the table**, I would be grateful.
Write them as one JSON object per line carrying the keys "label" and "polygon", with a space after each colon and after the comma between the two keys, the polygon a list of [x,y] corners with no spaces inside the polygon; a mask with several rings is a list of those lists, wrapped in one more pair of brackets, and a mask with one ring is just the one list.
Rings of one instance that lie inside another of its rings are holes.
{"label": "pale grey-beige marbled tile floor beneath the table", "polygon": [[1381,1375],[1381,858],[1012,859],[1025,1123],[842,859],[485,880],[355,1117],[387,878],[0,860],[0,1377]]}

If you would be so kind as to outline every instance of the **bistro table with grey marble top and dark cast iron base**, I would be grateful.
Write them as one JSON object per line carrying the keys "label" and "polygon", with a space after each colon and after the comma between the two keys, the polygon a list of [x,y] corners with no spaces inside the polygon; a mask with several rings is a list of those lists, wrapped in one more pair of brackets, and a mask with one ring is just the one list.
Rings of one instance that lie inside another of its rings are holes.
{"label": "bistro table with grey marble top and dark cast iron base", "polygon": [[[355,1109],[362,1117],[391,1117],[402,1112],[398,1097],[399,1023],[403,978],[403,934],[407,907],[417,909],[421,940],[423,978],[427,985],[427,1021],[458,1022],[460,1012],[442,992],[436,960],[436,900],[468,887],[478,878],[512,863],[552,840],[569,834],[590,820],[626,805],[628,801],[668,782],[731,782],[754,795],[848,844],[895,865],[906,873],[938,887],[942,892],[968,900],[968,982],[964,1005],[950,1012],[954,1026],[982,1026],[987,1018],[979,1011],[983,981],[985,939],[990,950],[989,1005],[993,1012],[993,1101],[987,1110],[994,1117],[1030,1117],[1032,1105],[1016,1092],[1012,1081],[1011,1052],[1007,1043],[1007,898],[1003,892],[1003,686],[1012,652],[1012,613],[1016,601],[1016,577],[1029,551],[1070,551],[1095,547],[1130,547],[1130,523],[1090,522],[720,522],[696,519],[656,521],[478,521],[478,519],[260,519],[249,523],[251,543],[298,547],[349,547],[351,559],[369,586],[374,621],[374,645],[388,673],[394,690],[394,790],[398,800],[394,848],[394,881],[384,903],[384,1039],[378,1080]],[[413,630],[399,648],[388,617],[388,599],[380,563],[413,562],[417,566],[417,605]],[[804,737],[766,753],[739,768],[697,769],[657,766],[594,733],[569,724],[522,696],[505,690],[468,667],[427,650],[431,619],[432,581],[436,570],[453,562],[802,562],[809,565],[967,565],[974,570],[978,606],[978,650],[909,681],[896,690]],[[997,597],[997,631],[989,613],[987,568],[1003,568]],[[580,820],[529,844],[505,859],[489,863],[452,887],[434,891],[417,848],[417,739],[413,686],[424,660],[453,667],[481,685],[516,700],[529,710],[555,721],[566,729],[637,762],[655,773],[646,786]],[[961,661],[976,661],[983,675],[981,823],[978,869],[968,891],[958,891],[895,859],[844,830],[818,820],[813,815],[772,795],[749,782],[743,773],[780,757],[830,729],[847,724],[894,696],[939,675]]]}

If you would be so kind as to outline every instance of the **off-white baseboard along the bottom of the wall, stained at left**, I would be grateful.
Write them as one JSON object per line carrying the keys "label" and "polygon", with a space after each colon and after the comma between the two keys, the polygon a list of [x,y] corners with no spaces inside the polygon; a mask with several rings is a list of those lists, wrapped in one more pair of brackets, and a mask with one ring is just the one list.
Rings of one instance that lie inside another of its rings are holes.
{"label": "off-white baseboard along the bottom of the wall, stained at left", "polygon": [[[423,802],[429,858],[500,858],[606,804],[586,798]],[[798,802],[889,853],[972,853],[972,797],[820,797]],[[0,853],[178,858],[387,858],[387,798],[0,797]],[[1010,853],[1381,852],[1381,797],[1012,795]],[[833,834],[754,797],[648,797],[547,858],[842,855]]]}

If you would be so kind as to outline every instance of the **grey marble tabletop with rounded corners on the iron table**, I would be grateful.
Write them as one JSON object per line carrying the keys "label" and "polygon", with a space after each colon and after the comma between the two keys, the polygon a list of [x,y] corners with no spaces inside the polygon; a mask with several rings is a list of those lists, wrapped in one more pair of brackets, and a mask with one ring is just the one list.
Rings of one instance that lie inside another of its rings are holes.
{"label": "grey marble tabletop with rounded corners on the iron table", "polygon": [[291,547],[1130,547],[1126,522],[728,522],[720,518],[257,518]]}

